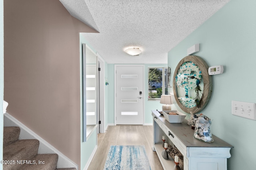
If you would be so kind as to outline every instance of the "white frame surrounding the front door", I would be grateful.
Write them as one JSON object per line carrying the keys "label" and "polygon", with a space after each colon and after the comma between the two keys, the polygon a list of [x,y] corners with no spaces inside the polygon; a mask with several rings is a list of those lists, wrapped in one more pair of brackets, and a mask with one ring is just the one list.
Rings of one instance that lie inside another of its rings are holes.
{"label": "white frame surrounding the front door", "polygon": [[143,119],[143,125],[145,123],[145,65],[144,64],[114,64],[115,70],[114,70],[114,125],[116,125],[116,67],[117,66],[142,66],[142,77],[143,77],[143,88],[142,88],[142,96],[143,96],[143,103],[142,103],[142,119]]}

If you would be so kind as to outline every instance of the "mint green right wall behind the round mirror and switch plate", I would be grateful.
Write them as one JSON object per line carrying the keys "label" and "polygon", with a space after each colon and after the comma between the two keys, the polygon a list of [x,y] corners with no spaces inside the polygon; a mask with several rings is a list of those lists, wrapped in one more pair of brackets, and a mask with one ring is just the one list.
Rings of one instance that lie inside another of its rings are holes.
{"label": "mint green right wall behind the round mirror and switch plate", "polygon": [[254,170],[256,121],[232,115],[231,101],[256,103],[256,1],[231,0],[168,53],[168,66],[174,70],[196,43],[194,55],[224,66],[223,74],[212,76],[212,97],[201,113],[213,119],[212,133],[234,146],[228,170]]}

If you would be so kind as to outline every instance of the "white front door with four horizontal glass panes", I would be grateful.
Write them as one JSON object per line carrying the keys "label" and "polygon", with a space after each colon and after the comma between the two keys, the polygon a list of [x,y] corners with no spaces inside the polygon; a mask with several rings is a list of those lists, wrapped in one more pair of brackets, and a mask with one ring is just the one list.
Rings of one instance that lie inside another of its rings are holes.
{"label": "white front door with four horizontal glass panes", "polygon": [[115,65],[116,124],[143,124],[144,65]]}

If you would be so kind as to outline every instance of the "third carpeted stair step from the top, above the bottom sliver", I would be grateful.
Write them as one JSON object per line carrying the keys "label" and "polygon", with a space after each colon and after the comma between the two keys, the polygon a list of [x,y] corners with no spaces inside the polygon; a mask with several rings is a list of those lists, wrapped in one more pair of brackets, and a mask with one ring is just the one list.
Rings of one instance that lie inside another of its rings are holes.
{"label": "third carpeted stair step from the top, above the bottom sliver", "polygon": [[58,154],[38,154],[33,164],[26,164],[20,170],[55,170],[58,162]]}

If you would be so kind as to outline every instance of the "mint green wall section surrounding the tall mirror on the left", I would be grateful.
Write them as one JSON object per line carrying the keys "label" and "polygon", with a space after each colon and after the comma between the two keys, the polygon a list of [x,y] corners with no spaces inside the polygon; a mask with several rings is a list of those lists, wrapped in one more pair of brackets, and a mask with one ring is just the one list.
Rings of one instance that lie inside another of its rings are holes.
{"label": "mint green wall section surrounding the tall mirror on the left", "polygon": [[[80,33],[80,70],[82,71],[82,44],[86,43],[86,45],[88,45],[90,47],[90,44],[86,41],[86,39],[84,39],[84,37],[81,35]],[[94,49],[92,47],[90,47],[93,51]],[[94,51],[95,52],[95,51]],[[80,92],[82,92],[82,75],[80,76]],[[86,166],[94,148],[97,145],[97,133],[96,133],[96,129],[94,130],[94,132],[92,133],[92,135],[90,136],[90,138],[86,141],[83,142],[83,98],[82,98],[82,94],[80,97],[80,113],[81,113],[81,165],[80,165],[80,170],[83,170],[84,167]]]}

